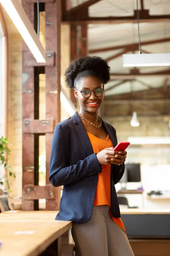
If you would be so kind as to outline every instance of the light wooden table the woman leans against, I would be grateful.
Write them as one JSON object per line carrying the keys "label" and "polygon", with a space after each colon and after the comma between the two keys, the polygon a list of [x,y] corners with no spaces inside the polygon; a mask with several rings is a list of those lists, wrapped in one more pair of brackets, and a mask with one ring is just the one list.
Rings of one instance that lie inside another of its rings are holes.
{"label": "light wooden table the woman leans against", "polygon": [[72,227],[72,222],[55,221],[56,214],[56,211],[0,213],[0,256],[46,256],[48,250],[60,256],[61,236]]}

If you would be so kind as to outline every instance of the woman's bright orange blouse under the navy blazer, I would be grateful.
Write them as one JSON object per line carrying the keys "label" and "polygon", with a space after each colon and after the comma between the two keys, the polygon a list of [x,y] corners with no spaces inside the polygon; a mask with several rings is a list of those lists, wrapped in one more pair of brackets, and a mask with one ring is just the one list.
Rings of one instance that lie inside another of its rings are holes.
{"label": "woman's bright orange blouse under the navy blazer", "polygon": [[[87,131],[88,137],[91,141],[94,153],[98,154],[105,148],[113,147],[113,144],[109,138],[101,140],[98,137]],[[102,165],[102,172],[98,174],[98,183],[96,187],[96,194],[94,197],[94,206],[108,205],[111,207],[111,165]],[[114,223],[125,231],[125,227],[121,218],[114,218],[110,209],[110,215]]]}

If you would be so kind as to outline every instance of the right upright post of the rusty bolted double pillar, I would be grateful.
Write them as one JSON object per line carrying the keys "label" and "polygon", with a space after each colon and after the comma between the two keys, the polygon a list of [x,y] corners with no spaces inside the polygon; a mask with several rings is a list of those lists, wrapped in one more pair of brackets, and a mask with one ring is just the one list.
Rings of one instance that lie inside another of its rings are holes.
{"label": "right upright post of the rusty bolted double pillar", "polygon": [[[61,38],[61,2],[45,4],[46,17],[46,50],[55,52],[54,67],[46,66],[46,118],[60,122],[60,38]],[[46,184],[49,182],[49,163],[53,133],[46,133]],[[59,209],[60,191],[55,189],[55,201],[46,200],[46,209]]]}

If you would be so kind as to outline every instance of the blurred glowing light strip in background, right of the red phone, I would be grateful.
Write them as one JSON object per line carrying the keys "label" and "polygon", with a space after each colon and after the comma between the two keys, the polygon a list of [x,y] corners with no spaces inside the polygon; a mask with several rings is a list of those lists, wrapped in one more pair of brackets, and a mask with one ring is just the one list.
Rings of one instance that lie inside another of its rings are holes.
{"label": "blurred glowing light strip in background, right of the red phone", "polygon": [[170,137],[128,137],[130,144],[170,144]]}

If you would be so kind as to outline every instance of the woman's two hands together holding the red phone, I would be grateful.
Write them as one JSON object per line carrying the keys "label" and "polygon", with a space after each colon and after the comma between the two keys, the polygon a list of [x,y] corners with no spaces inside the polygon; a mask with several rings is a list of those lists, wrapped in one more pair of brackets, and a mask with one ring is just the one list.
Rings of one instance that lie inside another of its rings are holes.
{"label": "woman's two hands together holding the red phone", "polygon": [[113,151],[114,148],[105,148],[96,154],[97,160],[100,164],[108,165],[115,164],[120,165],[126,160],[126,151]]}

